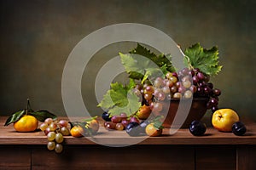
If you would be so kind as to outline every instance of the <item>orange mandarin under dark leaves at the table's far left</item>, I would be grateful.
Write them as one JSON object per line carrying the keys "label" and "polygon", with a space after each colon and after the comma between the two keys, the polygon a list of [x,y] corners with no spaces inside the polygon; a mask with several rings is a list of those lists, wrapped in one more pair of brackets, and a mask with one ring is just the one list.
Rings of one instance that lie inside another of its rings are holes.
{"label": "orange mandarin under dark leaves at the table's far left", "polygon": [[14,122],[14,127],[17,132],[33,132],[38,128],[38,119],[34,116],[22,116],[19,121]]}

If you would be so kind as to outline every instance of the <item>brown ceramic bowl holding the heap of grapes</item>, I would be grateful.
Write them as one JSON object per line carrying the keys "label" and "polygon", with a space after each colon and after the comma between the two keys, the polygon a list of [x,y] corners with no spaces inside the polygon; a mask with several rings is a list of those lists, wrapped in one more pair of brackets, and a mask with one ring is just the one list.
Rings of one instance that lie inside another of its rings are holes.
{"label": "brown ceramic bowl holding the heap of grapes", "polygon": [[[163,127],[167,127],[170,128],[172,127],[180,127],[180,124],[173,124],[175,122],[173,122],[174,117],[177,114],[177,109],[179,109],[179,116],[183,116],[189,114],[187,117],[184,116],[184,118],[180,118],[180,119],[185,119],[183,123],[183,125],[181,126],[182,128],[187,128],[189,127],[189,124],[195,120],[200,121],[201,118],[206,114],[207,112],[207,102],[208,102],[208,98],[196,98],[196,99],[183,99],[182,102],[180,102],[180,99],[171,99],[171,101],[166,102],[166,105],[170,105],[169,109],[168,109],[168,113],[166,115],[166,119],[163,122]],[[190,109],[186,108],[188,107],[187,105],[189,105],[189,102],[192,102],[190,105]],[[181,103],[181,104],[180,104]],[[167,110],[166,109],[166,110]],[[184,112],[184,114],[183,114]],[[185,113],[187,112],[187,113]]]}

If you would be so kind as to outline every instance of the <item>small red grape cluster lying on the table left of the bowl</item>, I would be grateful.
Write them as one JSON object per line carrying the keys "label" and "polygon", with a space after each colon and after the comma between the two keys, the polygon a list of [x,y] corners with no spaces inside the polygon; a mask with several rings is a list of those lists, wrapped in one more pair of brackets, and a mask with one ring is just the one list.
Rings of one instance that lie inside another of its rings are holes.
{"label": "small red grape cluster lying on the table left of the bowl", "polygon": [[125,127],[130,122],[137,122],[139,123],[139,120],[136,116],[127,117],[125,113],[120,113],[119,116],[109,116],[108,112],[104,112],[102,114],[102,119],[104,122],[104,127],[107,129],[115,129],[115,130],[125,130]]}

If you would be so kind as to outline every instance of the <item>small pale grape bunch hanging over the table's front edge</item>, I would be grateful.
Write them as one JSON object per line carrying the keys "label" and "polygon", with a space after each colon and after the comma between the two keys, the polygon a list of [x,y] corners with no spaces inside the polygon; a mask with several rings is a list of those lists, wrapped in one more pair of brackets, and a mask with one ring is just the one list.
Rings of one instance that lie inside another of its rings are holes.
{"label": "small pale grape bunch hanging over the table's front edge", "polygon": [[55,150],[56,153],[61,153],[63,150],[63,136],[69,135],[68,122],[66,120],[54,121],[52,118],[47,118],[40,125],[40,129],[47,135],[48,150]]}

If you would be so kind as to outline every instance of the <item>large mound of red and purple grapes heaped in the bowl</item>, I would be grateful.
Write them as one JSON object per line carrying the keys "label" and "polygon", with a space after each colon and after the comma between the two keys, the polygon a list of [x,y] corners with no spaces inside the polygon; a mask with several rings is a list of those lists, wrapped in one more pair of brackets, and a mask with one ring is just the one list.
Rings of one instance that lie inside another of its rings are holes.
{"label": "large mound of red and purple grapes heaped in the bowl", "polygon": [[[153,82],[137,84],[133,89],[142,97],[143,105],[149,105],[154,113],[163,110],[167,99],[208,98],[207,109],[218,110],[218,96],[221,91],[213,88],[210,77],[199,69],[183,68],[177,72],[167,72],[166,77],[156,77]],[[157,114],[156,114],[157,115]]]}

